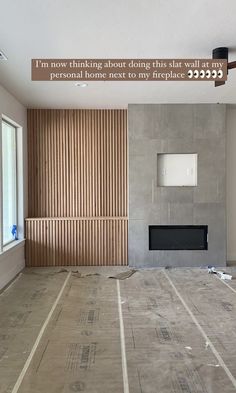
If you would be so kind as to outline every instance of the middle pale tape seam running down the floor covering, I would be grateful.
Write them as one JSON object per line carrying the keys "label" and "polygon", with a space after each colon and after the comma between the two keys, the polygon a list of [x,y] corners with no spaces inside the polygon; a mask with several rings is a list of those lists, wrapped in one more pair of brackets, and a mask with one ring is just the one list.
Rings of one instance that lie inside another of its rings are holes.
{"label": "middle pale tape seam running down the floor covering", "polygon": [[126,349],[125,349],[125,329],[124,329],[124,321],[122,315],[119,280],[117,280],[116,284],[117,284],[117,298],[118,298],[118,310],[119,310],[119,320],[120,320],[120,345],[121,345],[121,357],[122,357],[123,386],[124,386],[124,393],[129,393],[129,379],[128,379],[127,359],[126,359]]}

